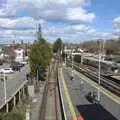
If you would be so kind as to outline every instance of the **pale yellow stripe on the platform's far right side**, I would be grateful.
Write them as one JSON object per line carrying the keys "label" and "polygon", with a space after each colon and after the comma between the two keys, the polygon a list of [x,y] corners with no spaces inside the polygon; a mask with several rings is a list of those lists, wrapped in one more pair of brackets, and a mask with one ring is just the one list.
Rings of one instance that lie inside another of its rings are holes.
{"label": "pale yellow stripe on the platform's far right side", "polygon": [[[77,71],[74,71],[74,73],[79,76],[80,73],[78,73]],[[83,75],[85,76],[85,75]],[[85,76],[86,77],[86,76]],[[89,78],[88,78],[89,79]],[[93,86],[94,88],[98,89],[98,85],[96,83],[94,83],[93,81],[89,81],[87,79],[82,79],[84,81],[86,81],[88,84],[90,84],[91,86]],[[110,99],[112,99],[114,102],[116,102],[117,104],[120,104],[120,99],[116,99],[115,95],[113,95],[111,92],[109,92],[108,90],[105,90],[104,88],[100,87],[100,92],[102,92],[103,94],[105,94],[107,97],[109,97]]]}

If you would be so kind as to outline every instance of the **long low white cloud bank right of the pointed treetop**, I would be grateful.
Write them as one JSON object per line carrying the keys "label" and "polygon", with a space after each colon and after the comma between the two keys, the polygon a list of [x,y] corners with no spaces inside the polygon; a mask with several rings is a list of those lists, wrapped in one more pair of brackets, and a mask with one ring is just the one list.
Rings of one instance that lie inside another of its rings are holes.
{"label": "long low white cloud bank right of the pointed treetop", "polygon": [[112,32],[100,32],[96,31],[94,28],[91,28],[87,25],[69,25],[64,27],[51,27],[49,29],[45,29],[45,36],[54,37],[62,37],[64,41],[68,42],[81,42],[84,40],[95,40],[95,39],[110,39],[116,38],[116,35]]}

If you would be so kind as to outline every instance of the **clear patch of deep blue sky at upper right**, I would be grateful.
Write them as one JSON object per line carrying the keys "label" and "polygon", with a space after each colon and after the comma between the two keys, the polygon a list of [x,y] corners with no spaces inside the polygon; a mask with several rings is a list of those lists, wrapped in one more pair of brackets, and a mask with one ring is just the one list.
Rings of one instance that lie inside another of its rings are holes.
{"label": "clear patch of deep blue sky at upper right", "polygon": [[113,29],[113,19],[120,16],[120,0],[92,0],[91,2],[89,11],[96,14],[93,26],[101,31]]}

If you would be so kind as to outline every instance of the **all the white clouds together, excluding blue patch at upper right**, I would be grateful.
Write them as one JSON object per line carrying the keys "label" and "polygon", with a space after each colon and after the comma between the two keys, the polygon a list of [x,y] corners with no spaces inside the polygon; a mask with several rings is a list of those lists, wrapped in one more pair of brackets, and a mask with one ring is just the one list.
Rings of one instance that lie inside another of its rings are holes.
{"label": "all the white clouds together, excluding blue patch at upper right", "polygon": [[[113,20],[116,30],[100,32],[86,25],[96,17],[85,7],[89,0],[7,0],[0,7],[0,41],[34,40],[38,23],[42,24],[45,38],[54,41],[58,37],[64,41],[84,41],[90,39],[108,39],[120,32],[120,17]],[[14,16],[11,18],[11,16]],[[22,17],[20,17],[22,16]],[[47,26],[47,23],[52,24]],[[54,26],[56,23],[67,23]]]}

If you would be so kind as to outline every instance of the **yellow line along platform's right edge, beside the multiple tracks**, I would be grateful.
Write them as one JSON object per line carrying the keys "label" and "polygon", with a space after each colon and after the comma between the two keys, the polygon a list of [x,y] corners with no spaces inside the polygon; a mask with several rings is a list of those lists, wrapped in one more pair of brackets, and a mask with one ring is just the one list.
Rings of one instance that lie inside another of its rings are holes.
{"label": "yellow line along platform's right edge, beside the multiple tracks", "polygon": [[[79,73],[78,73],[78,72],[74,71],[74,73],[79,76]],[[94,88],[98,89],[98,86],[95,85],[95,83],[92,83],[92,81],[89,81],[89,80],[86,80],[86,79],[82,79],[82,80],[86,81],[88,84],[90,84],[90,85],[93,86]],[[102,92],[103,94],[105,94],[107,97],[109,97],[110,99],[112,99],[112,100],[113,100],[114,102],[116,102],[117,104],[120,104],[120,100],[115,99],[115,98],[111,95],[111,93],[110,93],[109,91],[106,93],[103,89],[100,89],[100,92]],[[108,93],[109,93],[109,94],[108,94]]]}

